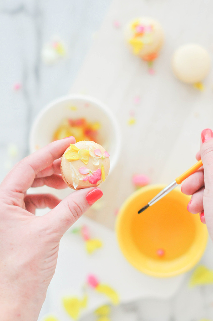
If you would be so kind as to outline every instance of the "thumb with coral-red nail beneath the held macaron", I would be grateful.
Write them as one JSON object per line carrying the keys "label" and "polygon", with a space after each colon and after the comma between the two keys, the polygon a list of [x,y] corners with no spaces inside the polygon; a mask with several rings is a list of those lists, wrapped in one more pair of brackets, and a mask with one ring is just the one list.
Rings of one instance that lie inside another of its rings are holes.
{"label": "thumb with coral-red nail beneath the held macaron", "polygon": [[43,218],[61,238],[66,230],[102,195],[103,193],[98,187],[80,189],[65,197]]}

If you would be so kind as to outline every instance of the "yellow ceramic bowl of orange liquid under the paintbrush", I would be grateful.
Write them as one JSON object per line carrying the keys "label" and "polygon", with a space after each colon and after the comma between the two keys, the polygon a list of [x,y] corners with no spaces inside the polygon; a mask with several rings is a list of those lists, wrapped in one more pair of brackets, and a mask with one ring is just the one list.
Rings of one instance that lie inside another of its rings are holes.
{"label": "yellow ceramic bowl of orange liquid under the paintbrush", "polygon": [[200,260],[208,240],[199,215],[187,211],[190,197],[179,188],[138,214],[164,187],[150,185],[133,193],[116,221],[118,243],[126,259],[139,271],[156,277],[190,270]]}

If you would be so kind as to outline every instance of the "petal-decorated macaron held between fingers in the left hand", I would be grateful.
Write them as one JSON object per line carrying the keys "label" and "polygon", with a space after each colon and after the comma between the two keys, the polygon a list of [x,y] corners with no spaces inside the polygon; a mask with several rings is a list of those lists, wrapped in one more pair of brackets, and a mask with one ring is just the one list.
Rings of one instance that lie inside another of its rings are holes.
{"label": "petal-decorated macaron held between fingers in the left hand", "polygon": [[68,187],[81,189],[100,185],[110,169],[109,154],[98,143],[70,144],[61,159],[61,174]]}

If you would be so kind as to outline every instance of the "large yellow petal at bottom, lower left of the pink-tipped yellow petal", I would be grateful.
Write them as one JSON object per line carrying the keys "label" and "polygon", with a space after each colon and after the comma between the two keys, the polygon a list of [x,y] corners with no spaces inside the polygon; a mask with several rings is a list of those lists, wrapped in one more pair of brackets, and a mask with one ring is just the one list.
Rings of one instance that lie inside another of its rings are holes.
{"label": "large yellow petal at bottom, lower left of the pink-tipped yellow petal", "polygon": [[83,299],[79,299],[77,297],[66,297],[62,299],[62,303],[68,315],[74,320],[78,320],[81,308],[86,308],[87,306],[87,296],[84,296]]}

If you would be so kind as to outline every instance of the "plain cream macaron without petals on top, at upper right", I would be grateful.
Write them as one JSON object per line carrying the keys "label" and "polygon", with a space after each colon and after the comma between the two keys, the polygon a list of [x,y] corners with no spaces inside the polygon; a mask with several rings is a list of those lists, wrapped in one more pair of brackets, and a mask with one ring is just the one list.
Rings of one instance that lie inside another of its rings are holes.
{"label": "plain cream macaron without petals on top, at upper right", "polygon": [[198,44],[179,47],[172,57],[172,70],[182,82],[196,84],[202,82],[210,71],[210,55]]}

